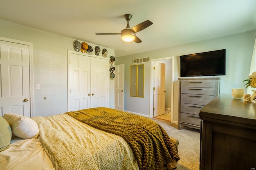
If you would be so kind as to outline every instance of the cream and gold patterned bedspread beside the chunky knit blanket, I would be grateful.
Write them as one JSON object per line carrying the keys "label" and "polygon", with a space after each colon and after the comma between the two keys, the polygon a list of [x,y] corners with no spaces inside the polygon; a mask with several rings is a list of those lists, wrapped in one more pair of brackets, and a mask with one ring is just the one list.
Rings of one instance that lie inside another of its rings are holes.
{"label": "cream and gold patterned bedspread beside the chunky knit blanket", "polygon": [[139,169],[122,137],[90,127],[68,114],[33,119],[38,123],[40,138],[56,169]]}

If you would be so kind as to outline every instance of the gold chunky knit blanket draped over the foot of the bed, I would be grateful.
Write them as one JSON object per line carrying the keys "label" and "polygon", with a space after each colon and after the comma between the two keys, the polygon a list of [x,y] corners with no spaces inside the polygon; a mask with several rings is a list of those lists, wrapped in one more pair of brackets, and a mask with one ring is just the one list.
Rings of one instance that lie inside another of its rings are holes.
{"label": "gold chunky knit blanket draped over the foot of the bed", "polygon": [[176,168],[180,159],[176,143],[155,121],[125,111],[97,107],[67,112],[92,127],[124,138],[130,145],[140,170],[159,170],[164,164]]}

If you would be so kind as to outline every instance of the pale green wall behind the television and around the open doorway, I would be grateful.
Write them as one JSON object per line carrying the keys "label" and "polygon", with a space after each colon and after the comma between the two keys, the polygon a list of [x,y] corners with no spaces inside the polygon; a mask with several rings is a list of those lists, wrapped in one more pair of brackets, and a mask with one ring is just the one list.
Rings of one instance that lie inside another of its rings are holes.
{"label": "pale green wall behind the television and around the open doorway", "polygon": [[[214,51],[218,49],[226,49],[226,75],[221,77],[220,93],[231,94],[232,88],[244,88],[244,82],[248,78],[250,71],[250,63],[252,51],[254,48],[256,30],[208,39],[195,43],[178,45],[154,51],[147,51],[134,55],[116,57],[116,64],[125,64],[125,88],[129,89],[129,66],[132,65],[132,59],[150,57],[151,59],[159,59],[174,56],[174,108],[173,120],[178,121],[178,78],[180,76],[179,56],[206,51]],[[145,64],[145,98],[130,97],[125,94],[126,111],[150,115],[150,64]],[[148,94],[148,95],[146,95]]]}

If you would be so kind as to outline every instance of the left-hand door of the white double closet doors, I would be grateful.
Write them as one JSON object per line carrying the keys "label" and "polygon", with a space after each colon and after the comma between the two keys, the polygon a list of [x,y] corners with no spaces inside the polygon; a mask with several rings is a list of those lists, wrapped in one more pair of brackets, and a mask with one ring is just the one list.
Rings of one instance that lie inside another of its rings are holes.
{"label": "left-hand door of the white double closet doors", "polygon": [[70,111],[91,108],[90,57],[70,53]]}

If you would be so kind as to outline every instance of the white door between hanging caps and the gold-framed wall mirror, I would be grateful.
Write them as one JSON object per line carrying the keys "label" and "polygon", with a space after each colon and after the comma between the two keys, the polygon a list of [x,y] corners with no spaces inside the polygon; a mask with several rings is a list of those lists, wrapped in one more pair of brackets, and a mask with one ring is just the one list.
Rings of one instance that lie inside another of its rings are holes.
{"label": "white door between hanging caps and the gold-framed wall mirror", "polygon": [[115,109],[124,111],[124,64],[115,68]]}

